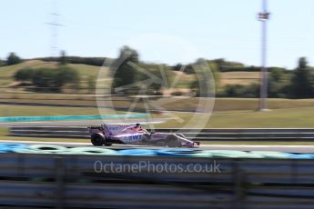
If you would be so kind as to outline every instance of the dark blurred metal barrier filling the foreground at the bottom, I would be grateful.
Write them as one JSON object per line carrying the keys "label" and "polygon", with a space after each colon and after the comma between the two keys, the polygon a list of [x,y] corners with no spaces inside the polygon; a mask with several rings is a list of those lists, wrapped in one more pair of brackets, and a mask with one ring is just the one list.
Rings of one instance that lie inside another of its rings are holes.
{"label": "dark blurred metal barrier filling the foreground at the bottom", "polygon": [[[312,160],[71,154],[0,158],[0,208],[286,209],[314,204]],[[138,166],[115,170],[119,164]],[[189,164],[194,170],[186,170]],[[204,170],[213,164],[218,170]]]}

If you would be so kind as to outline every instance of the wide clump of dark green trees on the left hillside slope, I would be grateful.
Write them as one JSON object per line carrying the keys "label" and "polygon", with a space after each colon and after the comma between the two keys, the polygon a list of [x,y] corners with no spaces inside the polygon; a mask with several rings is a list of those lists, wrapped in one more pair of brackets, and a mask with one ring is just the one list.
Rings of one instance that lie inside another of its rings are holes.
{"label": "wide clump of dark green trees on the left hillside slope", "polygon": [[31,82],[46,91],[61,92],[65,85],[78,87],[80,75],[68,66],[58,68],[24,68],[15,73],[15,80]]}

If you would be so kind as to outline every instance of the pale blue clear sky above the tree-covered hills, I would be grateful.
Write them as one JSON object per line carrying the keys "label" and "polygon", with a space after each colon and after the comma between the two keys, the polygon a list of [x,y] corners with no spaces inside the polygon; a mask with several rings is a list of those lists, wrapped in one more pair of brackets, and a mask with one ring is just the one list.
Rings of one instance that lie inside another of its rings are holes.
{"label": "pale blue clear sky above the tree-covered hills", "polygon": [[[51,55],[50,13],[57,12],[56,46],[67,55],[115,57],[131,45],[148,62],[176,64],[198,56],[260,64],[260,0],[0,0],[0,58]],[[268,65],[314,65],[314,1],[268,0]]]}

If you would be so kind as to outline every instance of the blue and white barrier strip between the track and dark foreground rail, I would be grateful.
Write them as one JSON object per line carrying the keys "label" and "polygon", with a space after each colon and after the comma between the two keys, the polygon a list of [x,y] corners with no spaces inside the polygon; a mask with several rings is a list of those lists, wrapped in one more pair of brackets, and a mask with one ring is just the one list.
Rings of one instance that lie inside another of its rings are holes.
{"label": "blue and white barrier strip between the track and dark foreground rail", "polygon": [[198,150],[187,148],[167,149],[106,149],[93,146],[66,147],[52,144],[10,144],[0,143],[0,153],[19,154],[92,154],[92,155],[143,155],[207,158],[273,158],[314,159],[314,154],[290,154],[274,151]]}

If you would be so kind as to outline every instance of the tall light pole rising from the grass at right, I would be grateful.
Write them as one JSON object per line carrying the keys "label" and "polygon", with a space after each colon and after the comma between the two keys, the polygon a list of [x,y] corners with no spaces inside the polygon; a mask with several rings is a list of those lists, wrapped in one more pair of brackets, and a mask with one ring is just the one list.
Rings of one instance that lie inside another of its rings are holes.
{"label": "tall light pole rising from the grass at right", "polygon": [[258,13],[258,20],[261,21],[261,69],[260,69],[260,98],[259,110],[267,109],[266,98],[268,96],[268,70],[266,67],[267,54],[267,21],[269,13],[267,11],[267,0],[262,0],[262,12]]}

